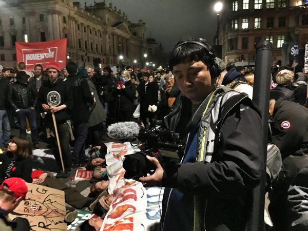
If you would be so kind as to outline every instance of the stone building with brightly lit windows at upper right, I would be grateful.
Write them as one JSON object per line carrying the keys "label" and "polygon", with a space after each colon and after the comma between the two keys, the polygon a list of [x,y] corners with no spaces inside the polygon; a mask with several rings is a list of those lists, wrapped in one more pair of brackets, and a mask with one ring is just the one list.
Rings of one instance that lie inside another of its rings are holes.
{"label": "stone building with brightly lit windows at upper right", "polygon": [[308,42],[308,8],[298,0],[224,0],[219,15],[219,44],[226,62],[254,61],[255,44],[273,43],[273,65],[290,63],[295,42]]}

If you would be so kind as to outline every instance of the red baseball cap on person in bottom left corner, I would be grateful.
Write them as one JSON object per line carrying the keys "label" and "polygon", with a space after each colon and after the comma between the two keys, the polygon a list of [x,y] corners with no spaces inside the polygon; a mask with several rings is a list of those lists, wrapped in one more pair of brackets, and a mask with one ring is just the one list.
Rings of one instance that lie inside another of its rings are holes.
{"label": "red baseball cap on person in bottom left corner", "polygon": [[8,187],[8,192],[11,193],[14,197],[26,198],[28,185],[22,178],[11,177],[6,179],[1,184],[0,190],[2,190],[5,185]]}

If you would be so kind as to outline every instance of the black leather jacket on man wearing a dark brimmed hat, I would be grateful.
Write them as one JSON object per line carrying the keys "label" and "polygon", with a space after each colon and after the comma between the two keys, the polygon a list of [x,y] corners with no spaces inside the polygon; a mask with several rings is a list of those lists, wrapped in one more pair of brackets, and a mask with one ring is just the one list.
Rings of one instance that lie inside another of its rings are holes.
{"label": "black leather jacket on man wearing a dark brimmed hat", "polygon": [[18,81],[8,85],[8,101],[14,110],[35,107],[37,91],[33,84],[20,84]]}

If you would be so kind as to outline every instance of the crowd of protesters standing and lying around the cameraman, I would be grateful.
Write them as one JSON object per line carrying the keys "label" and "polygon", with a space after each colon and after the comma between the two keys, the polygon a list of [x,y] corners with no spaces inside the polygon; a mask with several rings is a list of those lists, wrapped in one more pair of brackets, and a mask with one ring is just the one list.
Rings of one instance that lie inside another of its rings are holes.
{"label": "crowd of protesters standing and lying around the cameraman", "polygon": [[[254,68],[227,66],[222,60],[217,61],[220,75],[216,85],[245,92],[252,99]],[[308,228],[307,222],[303,221],[308,219],[308,210],[304,209],[308,204],[305,199],[308,186],[303,180],[308,172],[307,74],[293,70],[292,67],[273,68],[271,76],[271,140],[280,149],[283,165],[282,174],[269,191],[273,227],[268,230],[273,231]],[[136,121],[150,129],[163,126],[164,117],[181,104],[182,98],[185,97],[175,76],[168,69],[136,71],[126,66],[125,70],[114,73],[108,66],[97,70],[92,66],[79,67],[74,62],[67,63],[62,69],[56,63],[49,63],[45,70],[37,64],[32,72],[23,62],[18,64],[16,73],[11,68],[3,68],[0,76],[0,148],[5,154],[0,156],[0,183],[18,177],[26,182],[64,190],[67,203],[75,208],[88,207],[99,216],[85,222],[81,230],[86,230],[86,226],[97,230],[113,198],[108,195],[105,168],[107,127],[124,121]],[[53,114],[64,169],[54,138]],[[19,128],[20,137],[11,139],[11,128]],[[26,139],[28,130],[31,142]],[[57,181],[44,169],[33,174],[32,147],[40,148],[38,141],[48,138],[53,141],[54,157],[61,169],[56,178],[67,178],[72,168],[85,165],[94,171],[96,183],[91,186],[92,199]],[[88,148],[91,149],[89,155],[86,153]],[[67,214],[66,221],[71,222],[71,216],[75,215]]]}

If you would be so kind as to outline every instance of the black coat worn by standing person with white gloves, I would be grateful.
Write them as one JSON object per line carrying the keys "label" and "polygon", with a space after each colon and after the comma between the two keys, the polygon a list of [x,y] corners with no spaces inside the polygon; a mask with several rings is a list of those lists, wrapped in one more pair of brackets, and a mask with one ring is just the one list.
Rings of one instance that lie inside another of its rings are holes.
{"label": "black coat worn by standing person with white gloves", "polygon": [[144,83],[140,85],[138,90],[140,97],[140,112],[147,113],[149,105],[157,106],[159,86],[156,81],[148,83],[147,85]]}

